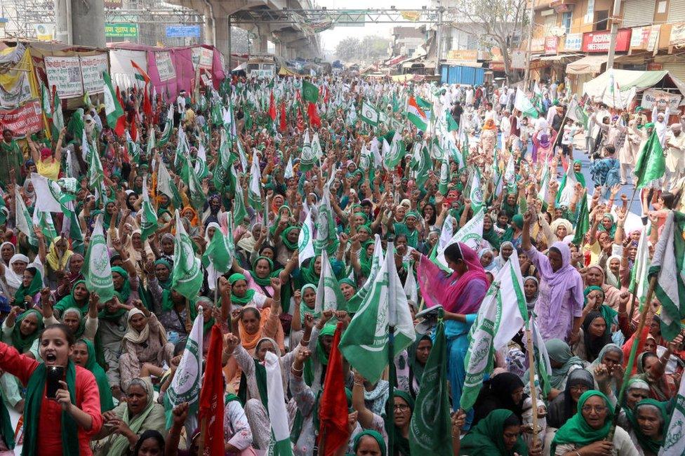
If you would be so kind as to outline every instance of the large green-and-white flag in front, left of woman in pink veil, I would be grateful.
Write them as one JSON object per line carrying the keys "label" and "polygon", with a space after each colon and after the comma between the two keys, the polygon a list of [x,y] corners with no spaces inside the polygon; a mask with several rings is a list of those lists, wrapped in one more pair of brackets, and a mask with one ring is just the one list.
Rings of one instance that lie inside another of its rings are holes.
{"label": "large green-and-white flag in front, left of woman in pink veil", "polygon": [[342,355],[371,383],[378,382],[388,364],[389,326],[395,328],[393,356],[409,347],[415,337],[409,304],[397,276],[392,242],[387,243],[387,250],[371,290],[340,340]]}

